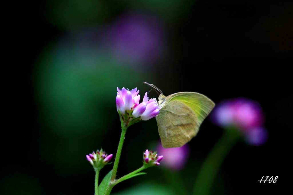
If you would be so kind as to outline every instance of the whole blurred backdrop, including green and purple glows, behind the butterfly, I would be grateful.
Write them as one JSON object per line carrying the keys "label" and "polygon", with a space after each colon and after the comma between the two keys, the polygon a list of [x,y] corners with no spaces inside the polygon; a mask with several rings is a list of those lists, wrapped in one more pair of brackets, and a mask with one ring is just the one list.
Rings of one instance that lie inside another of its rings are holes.
{"label": "whole blurred backdrop, including green and purple glows, behind the butterfly", "polygon": [[[7,7],[0,194],[93,194],[85,155],[101,147],[116,153],[116,87],[137,87],[143,96],[150,90],[143,82],[165,95],[190,91],[216,104],[235,97],[260,103],[267,142],[237,143],[211,194],[280,194],[287,186],[292,1],[42,0]],[[149,168],[113,194],[178,194],[170,178],[179,177],[190,194],[222,133],[206,119],[182,169]],[[143,151],[158,143],[154,118],[131,126],[118,176],[139,168]],[[262,176],[279,178],[260,184]]]}

